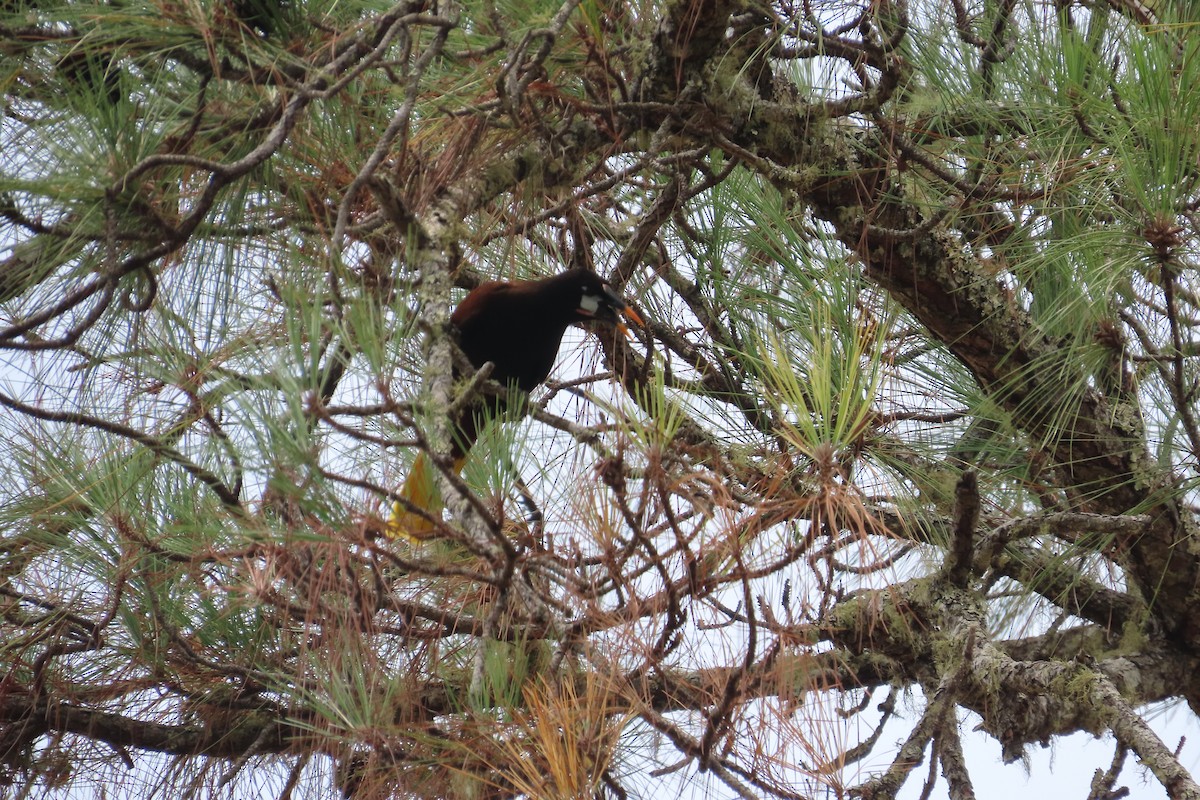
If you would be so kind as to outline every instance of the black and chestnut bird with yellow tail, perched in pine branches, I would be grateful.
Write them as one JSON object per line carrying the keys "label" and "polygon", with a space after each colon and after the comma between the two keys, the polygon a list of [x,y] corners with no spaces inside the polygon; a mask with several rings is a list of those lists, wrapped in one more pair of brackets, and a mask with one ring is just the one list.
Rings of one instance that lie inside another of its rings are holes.
{"label": "black and chestnut bird with yellow tail, perched in pine branches", "polygon": [[[570,325],[600,321],[628,331],[622,314],[646,326],[612,285],[578,267],[536,281],[488,281],[470,290],[450,314],[458,347],[475,369],[491,363],[491,379],[508,393],[480,396],[456,414],[450,445],[454,470],[462,471],[479,432],[487,420],[504,414],[509,397],[524,398],[550,377]],[[463,377],[462,371],[455,371],[456,379]],[[442,498],[425,452],[413,462],[400,497],[430,518],[396,503],[388,535],[414,543],[428,539],[437,528],[432,519],[442,513]]]}

